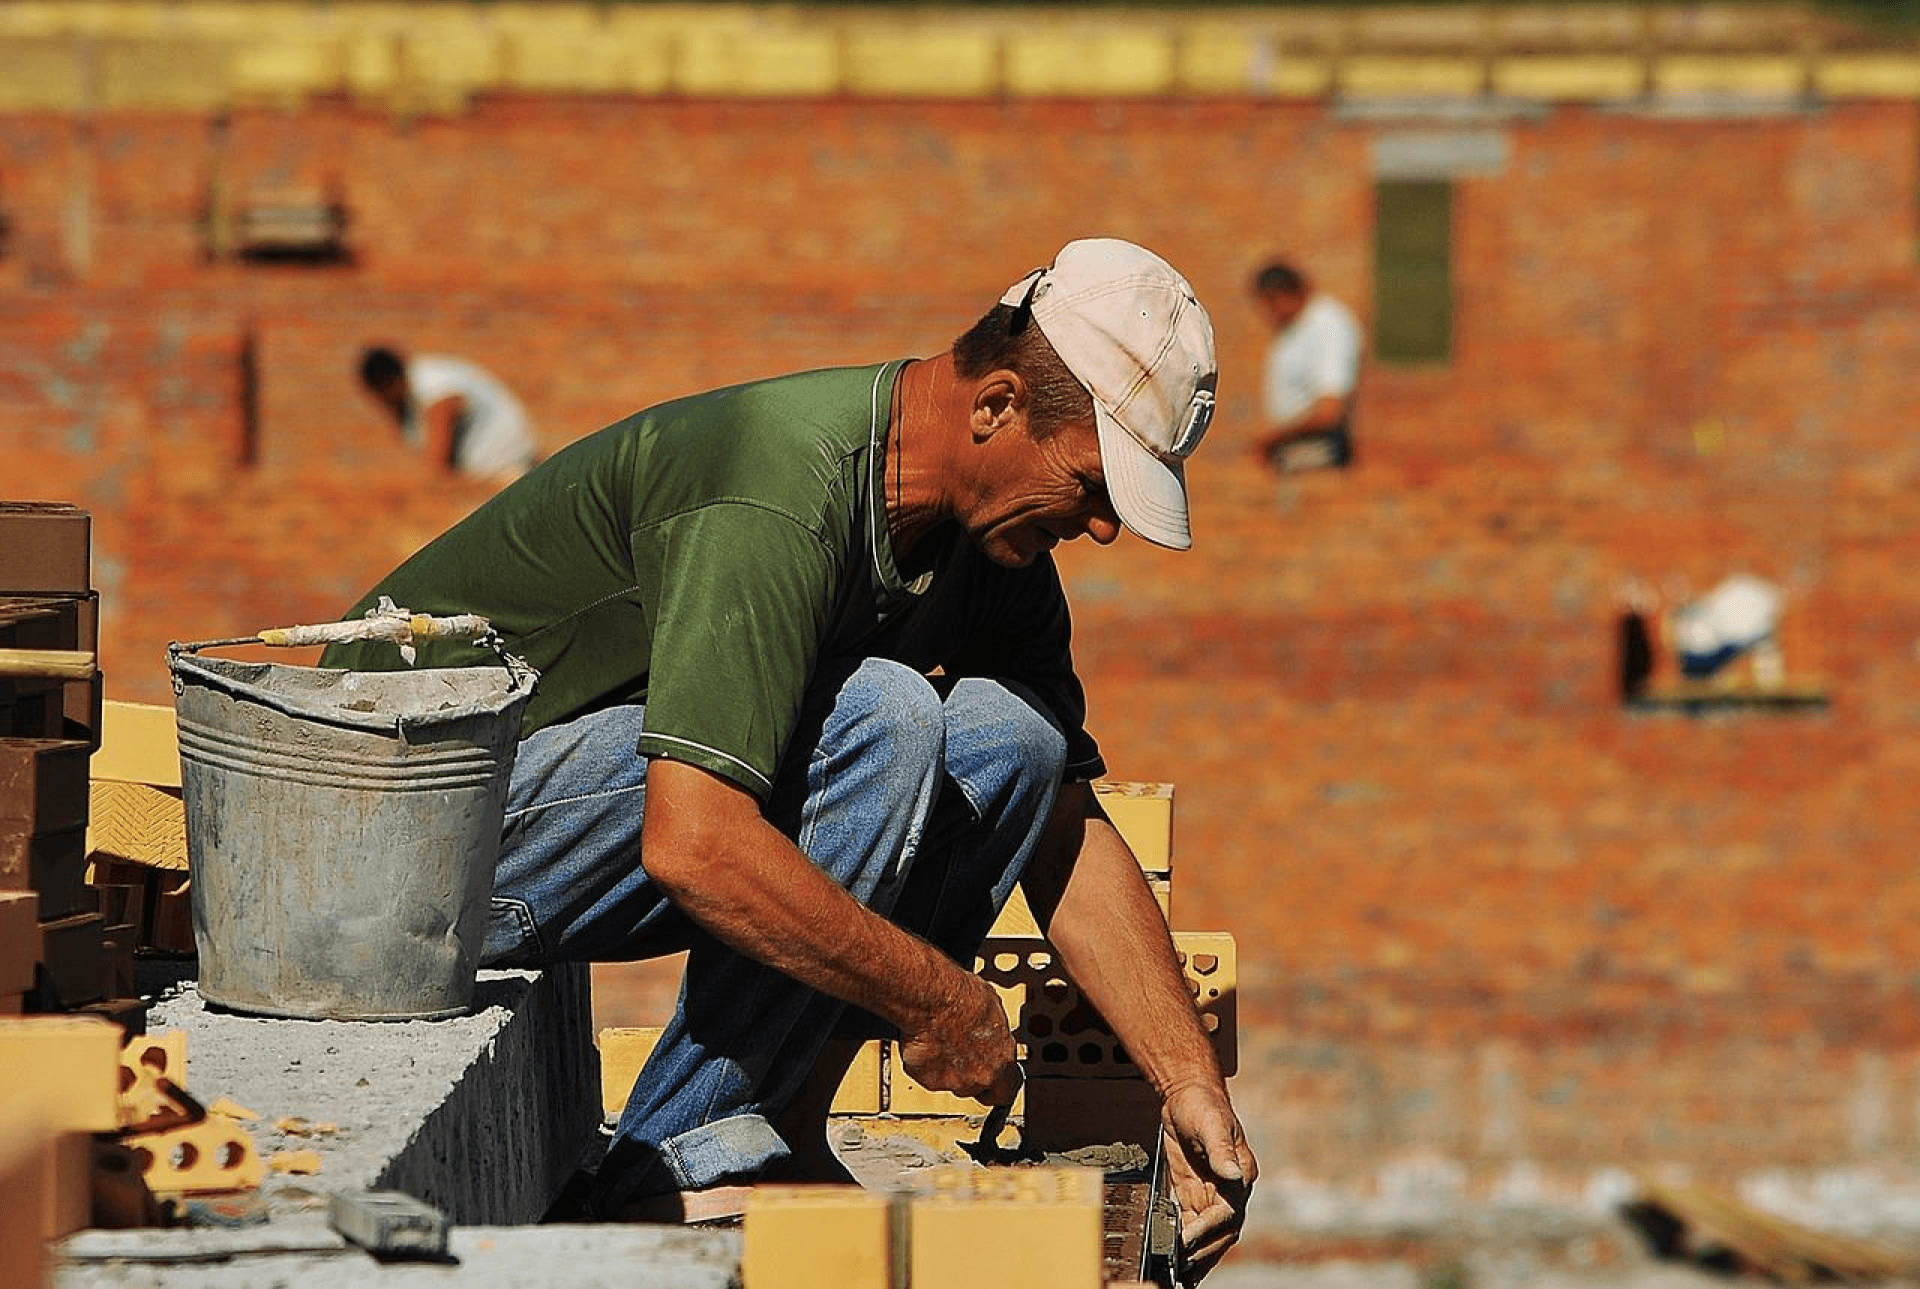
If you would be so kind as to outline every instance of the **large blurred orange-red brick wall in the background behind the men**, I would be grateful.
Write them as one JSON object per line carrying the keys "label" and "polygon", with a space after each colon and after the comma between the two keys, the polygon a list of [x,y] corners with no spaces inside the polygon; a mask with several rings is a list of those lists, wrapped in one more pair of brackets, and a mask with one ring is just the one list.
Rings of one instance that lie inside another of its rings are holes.
{"label": "large blurred orange-red brick wall in the background behind the men", "polygon": [[[1371,148],[1413,129],[1177,98],[0,117],[0,494],[94,513],[108,690],[156,701],[169,638],[328,617],[484,496],[394,442],[369,340],[480,359],[557,448],[931,352],[1062,240],[1137,238],[1219,332],[1198,547],[1064,567],[1116,774],[1179,784],[1175,916],[1240,936],[1269,1160],[1361,1193],[1430,1158],[1897,1168],[1916,108],[1476,127],[1509,154],[1455,190],[1455,359],[1369,371],[1361,465],[1275,480],[1246,275],[1294,254],[1365,313]],[[205,261],[215,173],[338,188],[353,261]],[[1791,590],[1830,705],[1622,713],[1622,588],[1734,571]]]}

